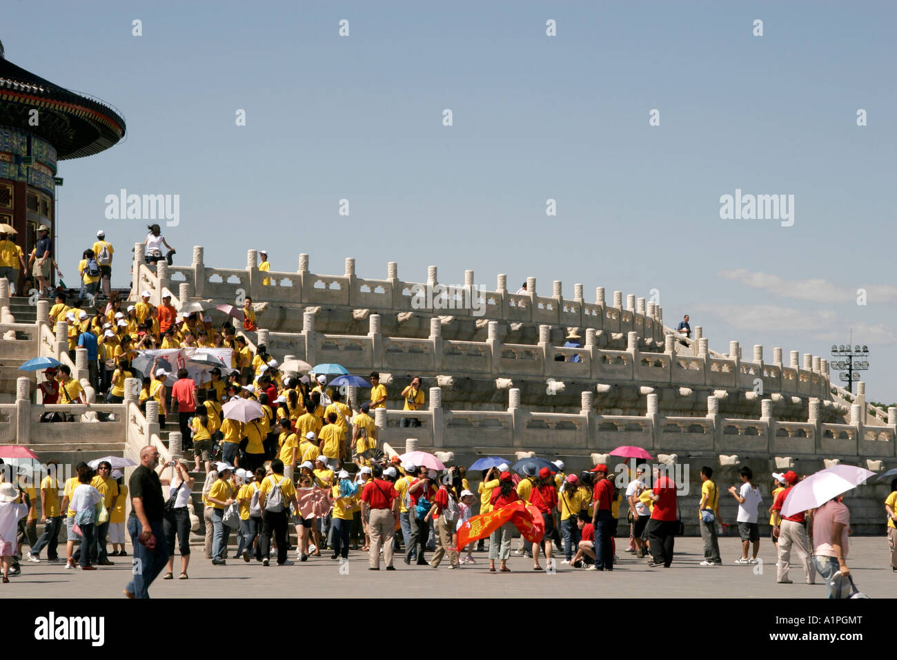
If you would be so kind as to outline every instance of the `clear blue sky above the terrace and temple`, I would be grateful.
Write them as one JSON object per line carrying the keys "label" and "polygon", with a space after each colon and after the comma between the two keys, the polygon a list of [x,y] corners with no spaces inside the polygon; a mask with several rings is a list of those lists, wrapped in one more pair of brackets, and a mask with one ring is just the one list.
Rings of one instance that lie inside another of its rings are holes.
{"label": "clear blue sky above the terrace and temple", "polygon": [[[60,165],[64,273],[97,229],[120,257],[143,241],[108,195],[179,195],[176,265],[203,245],[220,268],[257,248],[274,270],[308,252],[323,274],[657,289],[667,325],[689,313],[745,358],[828,357],[852,329],[868,399],[897,400],[893,3],[6,0],[4,19],[8,59],[127,122]],[[793,213],[721,217],[736,189]]]}

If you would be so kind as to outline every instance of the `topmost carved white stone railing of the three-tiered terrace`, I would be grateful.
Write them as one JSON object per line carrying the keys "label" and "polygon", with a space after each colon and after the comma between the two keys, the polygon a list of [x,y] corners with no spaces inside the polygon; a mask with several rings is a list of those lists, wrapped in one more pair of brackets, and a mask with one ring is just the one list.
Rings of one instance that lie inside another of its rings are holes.
{"label": "topmost carved white stone railing of the three-tiered terrace", "polygon": [[[160,262],[147,266],[143,244],[135,245],[134,272],[137,273],[131,297],[148,290],[152,304],[161,303],[161,292],[179,293],[187,286],[189,297],[204,298],[215,303],[237,304],[241,296],[254,302],[296,306],[345,306],[370,309],[382,313],[423,311],[451,314],[457,317],[482,318],[492,321],[547,323],[573,328],[604,330],[607,333],[634,331],[639,337],[662,341],[663,310],[635,295],[614,291],[613,304],[605,302],[604,287],[597,287],[595,303],[584,299],[583,286],[574,286],[573,299],[562,295],[562,283],[553,282],[552,295],[536,293],[536,278],[527,278],[527,293],[515,294],[507,288],[507,276],[499,275],[494,291],[475,285],[474,271],[465,271],[464,285],[445,287],[437,277],[437,268],[428,268],[426,282],[410,282],[398,278],[396,262],[388,264],[386,279],[365,279],[355,275],[355,260],[345,260],[343,275],[317,275],[309,271],[309,255],[300,254],[297,272],[259,271],[257,253],[249,250],[247,267],[206,267],[204,249],[193,249],[190,266],[174,267]],[[155,272],[153,272],[155,270]],[[264,285],[268,279],[270,284]],[[416,295],[431,292],[429,295]],[[418,305],[423,298],[428,304]]]}

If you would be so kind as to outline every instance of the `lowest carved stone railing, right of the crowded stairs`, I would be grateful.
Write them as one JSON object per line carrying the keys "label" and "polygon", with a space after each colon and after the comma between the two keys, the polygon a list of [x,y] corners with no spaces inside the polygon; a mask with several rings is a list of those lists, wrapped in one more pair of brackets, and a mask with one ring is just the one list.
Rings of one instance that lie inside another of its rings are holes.
{"label": "lowest carved stone railing, right of the crowded stairs", "polygon": [[[509,450],[569,450],[578,455],[606,452],[621,444],[649,452],[690,452],[706,455],[750,453],[783,456],[844,456],[875,459],[895,456],[897,423],[864,427],[859,407],[851,409],[849,424],[819,420],[821,401],[811,399],[809,420],[779,422],[771,416],[772,400],[761,401],[759,419],[730,419],[718,414],[718,399],[708,398],[710,412],[703,418],[658,414],[658,395],[648,395],[644,416],[597,415],[591,392],[582,393],[579,414],[544,413],[522,409],[520,392],[509,390],[509,408],[501,411],[442,409],[440,388],[430,390],[429,409],[375,410],[379,439],[402,446],[408,437],[422,447],[466,453]],[[897,414],[897,409],[892,409]],[[417,418],[421,427],[400,427],[402,418]]]}

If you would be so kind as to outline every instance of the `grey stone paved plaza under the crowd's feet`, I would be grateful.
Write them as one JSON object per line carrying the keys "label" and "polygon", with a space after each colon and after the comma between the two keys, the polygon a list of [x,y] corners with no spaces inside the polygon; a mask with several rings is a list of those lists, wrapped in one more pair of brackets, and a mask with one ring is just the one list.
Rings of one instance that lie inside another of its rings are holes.
{"label": "grey stone paved plaza under the crowd's feet", "polygon": [[[623,540],[620,540],[623,541]],[[621,547],[622,546],[622,547]],[[310,558],[284,568],[264,568],[256,561],[228,559],[227,566],[213,567],[195,552],[195,562],[188,569],[189,580],[162,580],[153,583],[153,598],[213,598],[221,596],[276,595],[300,596],[312,588],[328,596],[374,597],[507,597],[507,596],[574,596],[574,597],[671,597],[671,598],[825,598],[825,586],[805,585],[803,571],[792,568],[793,585],[777,585],[775,558],[771,542],[761,542],[762,574],[757,567],[736,566],[740,543],[735,538],[720,539],[724,564],[717,568],[701,568],[701,540],[686,537],[676,541],[672,568],[648,568],[645,560],[632,559],[622,552],[622,561],[613,574],[567,567],[554,575],[534,573],[532,562],[511,555],[511,574],[491,574],[486,553],[475,553],[476,564],[450,570],[443,563],[438,570],[429,567],[405,566],[396,559],[396,572],[368,570],[367,553],[350,554],[348,575],[341,575],[338,562]],[[128,551],[130,552],[130,546]],[[233,551],[231,547],[231,552]],[[431,553],[427,553],[430,557]],[[884,538],[858,537],[851,540],[849,566],[858,587],[873,598],[897,595],[897,574],[887,566],[887,545]],[[41,562],[22,564],[22,575],[10,578],[9,585],[0,585],[4,599],[15,598],[117,598],[122,597],[130,562],[117,559],[116,566],[82,573],[64,570],[62,565]],[[544,559],[543,566],[544,566]],[[175,559],[175,576],[179,558]]]}

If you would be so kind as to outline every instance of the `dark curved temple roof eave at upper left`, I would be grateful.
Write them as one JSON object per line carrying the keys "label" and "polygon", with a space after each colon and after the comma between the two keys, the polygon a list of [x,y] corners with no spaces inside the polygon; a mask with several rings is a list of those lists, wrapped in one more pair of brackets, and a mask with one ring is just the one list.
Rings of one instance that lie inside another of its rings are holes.
{"label": "dark curved temple roof eave at upper left", "polygon": [[[30,110],[39,110],[33,126]],[[56,147],[60,160],[99,154],[125,136],[116,110],[34,75],[4,57],[0,42],[0,126],[22,128]]]}

